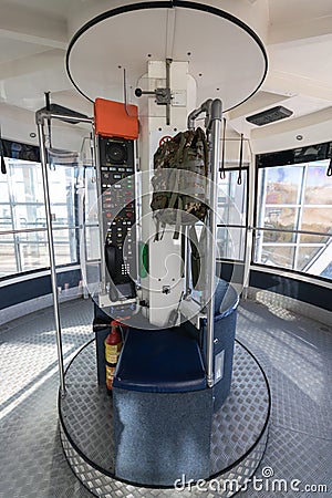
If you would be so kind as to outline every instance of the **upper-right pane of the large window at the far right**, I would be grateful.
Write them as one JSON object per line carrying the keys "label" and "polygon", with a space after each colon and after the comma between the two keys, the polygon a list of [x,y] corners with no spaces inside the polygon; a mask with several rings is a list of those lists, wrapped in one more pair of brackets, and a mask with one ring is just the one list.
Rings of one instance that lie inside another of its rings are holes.
{"label": "upper-right pane of the large window at the far right", "polygon": [[332,205],[332,185],[326,177],[330,160],[318,160],[308,166],[304,204]]}

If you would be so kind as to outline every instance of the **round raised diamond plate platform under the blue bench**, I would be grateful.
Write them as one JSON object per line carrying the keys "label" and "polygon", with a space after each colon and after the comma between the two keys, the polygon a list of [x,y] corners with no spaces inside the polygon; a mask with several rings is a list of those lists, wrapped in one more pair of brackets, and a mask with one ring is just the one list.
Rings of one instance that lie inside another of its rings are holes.
{"label": "round raised diamond plate platform under the blue bench", "polygon": [[[79,479],[95,496],[127,496],[128,488],[135,497],[156,496],[155,489],[123,483],[114,476],[112,397],[104,386],[97,386],[94,341],[75,356],[65,381],[66,395],[60,398],[61,437]],[[236,344],[231,391],[212,419],[211,476],[207,478],[207,486],[212,485],[211,496],[232,496],[253,475],[266,448],[269,413],[266,376],[255,357]],[[226,479],[234,479],[234,492],[222,489]],[[121,489],[123,495],[114,495]],[[195,496],[195,488],[184,489],[181,495],[186,497],[187,491],[188,497]],[[158,496],[172,497],[174,492],[160,489]]]}

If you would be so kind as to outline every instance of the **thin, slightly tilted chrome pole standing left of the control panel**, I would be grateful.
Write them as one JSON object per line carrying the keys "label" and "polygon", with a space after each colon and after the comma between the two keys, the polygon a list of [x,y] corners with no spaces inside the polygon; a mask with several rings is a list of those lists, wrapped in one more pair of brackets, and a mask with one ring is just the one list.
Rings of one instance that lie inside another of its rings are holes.
{"label": "thin, slightly tilted chrome pole standing left of the control panel", "polygon": [[62,335],[61,335],[61,324],[60,324],[60,313],[59,313],[59,295],[58,295],[58,283],[56,283],[54,242],[53,242],[53,232],[52,232],[52,216],[51,216],[46,149],[45,149],[45,136],[44,136],[44,118],[42,116],[38,116],[37,125],[38,125],[38,136],[39,136],[39,145],[40,145],[40,162],[41,162],[41,167],[42,167],[44,201],[45,201],[45,211],[46,211],[49,256],[50,256],[53,308],[54,308],[55,331],[56,331],[58,363],[59,363],[59,374],[60,374],[60,392],[61,392],[61,395],[63,396],[65,394],[65,384],[64,384],[64,367],[63,367],[63,352],[62,352]]}

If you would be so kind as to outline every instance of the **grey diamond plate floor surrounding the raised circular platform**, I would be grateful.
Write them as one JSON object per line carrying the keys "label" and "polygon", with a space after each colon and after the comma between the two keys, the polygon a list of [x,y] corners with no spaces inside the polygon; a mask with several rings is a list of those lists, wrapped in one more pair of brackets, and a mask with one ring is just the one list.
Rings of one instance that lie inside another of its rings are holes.
{"label": "grey diamond plate floor surrounding the raised circular platform", "polygon": [[[92,317],[90,301],[61,304],[66,363],[92,338]],[[328,492],[302,487],[299,494],[249,485],[237,496],[332,496],[332,330],[284,309],[248,301],[239,307],[237,336],[263,366],[272,392],[269,442],[256,475],[271,468],[278,479],[328,486]],[[2,325],[0,355],[0,497],[91,498],[61,447],[52,310]],[[121,488],[115,496],[134,495],[131,488]],[[160,494],[154,490],[153,496]]]}

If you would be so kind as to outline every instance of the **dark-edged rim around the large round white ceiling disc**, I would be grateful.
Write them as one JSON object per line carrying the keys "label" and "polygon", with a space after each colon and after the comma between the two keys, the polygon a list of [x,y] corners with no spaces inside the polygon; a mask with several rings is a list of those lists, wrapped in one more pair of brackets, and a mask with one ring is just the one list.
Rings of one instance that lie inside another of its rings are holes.
{"label": "dark-edged rim around the large round white ceiling disc", "polygon": [[[259,59],[258,64],[257,64],[257,65],[259,65],[259,70],[258,70],[259,74],[257,77],[258,81],[255,82],[253,84],[251,84],[251,87],[248,90],[247,93],[246,93],[246,91],[243,91],[242,95],[239,96],[238,101],[234,98],[232,100],[234,102],[231,101],[229,103],[229,106],[226,106],[225,112],[237,107],[238,105],[242,104],[248,98],[250,98],[262,85],[262,83],[266,79],[266,75],[267,75],[267,71],[268,71],[267,52],[266,52],[263,43],[260,40],[260,38],[258,37],[258,34],[249,25],[247,25],[243,21],[241,21],[240,19],[236,18],[234,14],[231,14],[227,11],[220,10],[220,9],[209,6],[209,4],[191,2],[191,1],[183,1],[183,0],[151,1],[151,2],[145,1],[145,2],[139,2],[139,3],[132,3],[132,4],[117,7],[115,9],[108,10],[106,12],[103,12],[103,13],[96,15],[95,18],[93,18],[92,20],[86,22],[82,28],[80,28],[79,31],[73,35],[72,40],[70,41],[70,44],[69,44],[69,48],[66,51],[66,58],[65,58],[65,66],[66,66],[68,76],[69,76],[70,81],[72,82],[73,86],[77,90],[77,92],[92,103],[94,102],[96,96],[103,96],[105,98],[114,98],[114,96],[112,96],[112,95],[110,95],[110,96],[101,95],[95,90],[87,89],[87,91],[86,91],[86,89],[84,89],[86,77],[81,77],[81,81],[77,81],[77,80],[80,80],[80,77],[77,79],[76,77],[77,74],[76,75],[74,74],[75,70],[73,70],[73,63],[72,63],[73,52],[75,50],[77,50],[77,45],[80,44],[80,42],[82,41],[84,35],[89,35],[89,33],[91,33],[91,30],[95,29],[97,25],[101,25],[103,23],[103,21],[110,22],[110,20],[112,20],[115,17],[118,17],[121,14],[128,14],[128,13],[134,13],[134,12],[139,13],[143,11],[147,12],[147,11],[153,11],[153,10],[156,11],[158,9],[165,10],[165,9],[174,9],[174,8],[178,8],[180,10],[187,9],[190,12],[200,12],[204,14],[212,14],[212,17],[216,17],[219,20],[222,20],[224,22],[227,22],[228,24],[232,24],[234,25],[232,29],[237,29],[237,31],[239,32],[239,34],[242,38],[243,38],[243,33],[245,33],[246,42],[247,42],[246,45],[251,44],[252,50],[257,53],[257,58]],[[118,22],[118,19],[120,18],[117,18],[117,22]],[[112,33],[112,30],[110,30],[110,32]],[[222,30],[220,30],[220,32],[222,32]],[[204,40],[204,37],[200,40]],[[189,44],[190,44],[190,41],[193,41],[193,37],[191,37],[191,39],[189,38],[189,42],[188,42]],[[241,42],[243,45],[243,40],[241,40]],[[84,43],[83,43],[83,45],[84,45]],[[221,44],[219,46],[221,46]],[[215,48],[215,50],[216,50],[216,48]],[[187,53],[187,50],[185,51],[185,53]],[[90,60],[90,62],[91,61],[93,62],[93,59],[94,58],[92,58]],[[245,63],[246,63],[247,59],[248,58],[243,56],[241,62],[245,61]],[[158,60],[164,60],[164,59],[160,58]],[[89,63],[81,64],[81,65],[89,66]],[[216,64],[211,64],[211,65],[216,66]],[[253,61],[252,65],[255,65],[255,61]],[[118,64],[116,66],[118,68]],[[222,68],[222,61],[219,62],[219,66]],[[103,70],[104,70],[104,68],[103,68]],[[227,73],[227,69],[225,71],[225,73]],[[243,77],[243,81],[245,81],[245,79],[246,79],[246,76]],[[199,80],[201,80],[201,79],[199,79]],[[250,77],[249,77],[249,80],[250,80]],[[217,89],[218,94],[216,96],[221,97],[221,101],[222,101],[222,93],[219,92],[219,86],[220,86],[219,82],[216,82],[215,86],[218,87]],[[230,82],[229,87],[235,87],[235,84],[232,82]],[[204,100],[206,97],[211,97],[211,96],[212,95],[204,96]]]}

